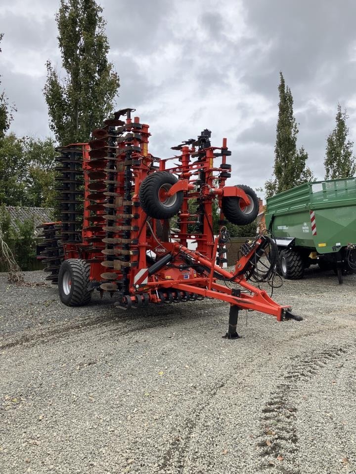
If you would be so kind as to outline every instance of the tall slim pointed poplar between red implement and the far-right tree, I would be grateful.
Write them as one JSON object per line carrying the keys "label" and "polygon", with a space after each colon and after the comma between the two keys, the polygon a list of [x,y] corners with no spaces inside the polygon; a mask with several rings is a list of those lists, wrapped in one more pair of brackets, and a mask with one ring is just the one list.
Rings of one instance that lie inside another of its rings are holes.
{"label": "tall slim pointed poplar between red implement and the far-right tree", "polygon": [[303,147],[297,150],[298,126],[293,115],[293,97],[280,73],[278,86],[279,104],[274,148],[274,179],[267,181],[266,197],[314,179],[312,171],[306,165],[308,153]]}

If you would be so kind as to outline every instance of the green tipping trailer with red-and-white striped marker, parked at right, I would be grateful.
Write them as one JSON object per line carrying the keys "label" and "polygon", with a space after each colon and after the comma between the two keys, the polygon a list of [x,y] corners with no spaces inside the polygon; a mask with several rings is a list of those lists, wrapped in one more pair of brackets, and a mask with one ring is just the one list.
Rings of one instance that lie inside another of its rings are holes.
{"label": "green tipping trailer with red-and-white striped marker, parked at right", "polygon": [[305,183],[267,198],[266,227],[280,251],[284,278],[302,278],[304,269],[342,274],[356,269],[356,178]]}

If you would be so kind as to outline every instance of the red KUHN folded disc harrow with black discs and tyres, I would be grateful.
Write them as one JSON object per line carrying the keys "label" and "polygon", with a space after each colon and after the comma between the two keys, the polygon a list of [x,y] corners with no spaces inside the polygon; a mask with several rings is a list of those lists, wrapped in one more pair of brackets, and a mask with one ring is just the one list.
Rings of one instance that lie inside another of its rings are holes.
{"label": "red KUHN folded disc harrow with black discs and tyres", "polygon": [[[59,149],[61,217],[42,226],[39,251],[61,301],[88,304],[93,290],[115,294],[122,309],[214,298],[230,304],[229,338],[238,337],[241,309],[278,321],[301,319],[248,281],[271,283],[275,275],[278,254],[267,235],[242,246],[232,272],[223,269],[227,221],[248,224],[259,210],[251,188],[225,186],[231,172],[226,139],[213,147],[204,130],[173,147],[173,158],[155,158],[149,127],[132,112],[116,112],[89,143]],[[221,209],[217,237],[214,203]]]}

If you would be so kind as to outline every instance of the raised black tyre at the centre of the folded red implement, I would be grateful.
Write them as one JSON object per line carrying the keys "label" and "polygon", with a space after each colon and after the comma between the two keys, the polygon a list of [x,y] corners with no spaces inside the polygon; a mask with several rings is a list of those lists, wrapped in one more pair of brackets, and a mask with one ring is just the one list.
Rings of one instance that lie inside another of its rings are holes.
{"label": "raised black tyre at the centre of the folded red implement", "polygon": [[[168,171],[156,171],[142,181],[139,200],[145,213],[154,219],[170,219],[175,216],[183,202],[183,191],[171,197],[164,197],[178,178]],[[166,200],[165,200],[166,199]]]}

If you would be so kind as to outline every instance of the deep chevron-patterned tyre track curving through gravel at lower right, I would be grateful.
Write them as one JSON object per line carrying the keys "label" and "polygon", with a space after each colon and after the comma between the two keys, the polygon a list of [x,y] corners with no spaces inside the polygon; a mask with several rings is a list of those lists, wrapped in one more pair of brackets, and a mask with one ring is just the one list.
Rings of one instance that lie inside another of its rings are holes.
{"label": "deep chevron-patterned tyre track curving through gravel at lower right", "polygon": [[296,405],[300,389],[296,385],[299,382],[309,383],[321,368],[350,351],[355,351],[355,345],[330,346],[320,352],[312,351],[299,360],[298,366],[288,368],[283,382],[270,394],[262,409],[261,433],[257,443],[260,469],[300,474]]}

